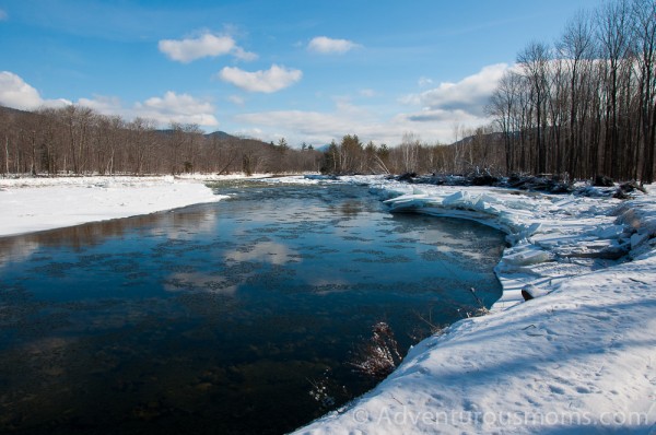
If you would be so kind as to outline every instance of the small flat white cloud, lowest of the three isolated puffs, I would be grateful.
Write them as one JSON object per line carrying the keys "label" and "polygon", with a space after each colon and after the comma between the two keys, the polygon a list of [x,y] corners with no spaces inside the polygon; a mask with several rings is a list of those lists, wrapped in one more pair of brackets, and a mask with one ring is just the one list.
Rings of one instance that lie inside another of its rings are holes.
{"label": "small flat white cloud, lowest of the three isolated puffs", "polygon": [[248,92],[263,92],[270,94],[296,83],[303,77],[301,70],[291,70],[277,64],[268,70],[248,72],[238,68],[225,67],[219,72],[219,78],[224,82]]}

